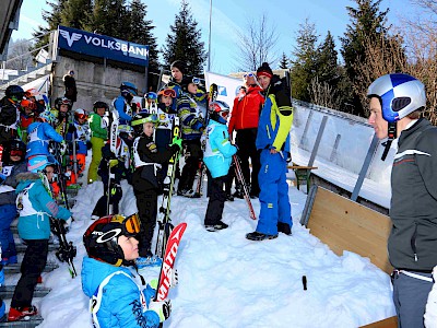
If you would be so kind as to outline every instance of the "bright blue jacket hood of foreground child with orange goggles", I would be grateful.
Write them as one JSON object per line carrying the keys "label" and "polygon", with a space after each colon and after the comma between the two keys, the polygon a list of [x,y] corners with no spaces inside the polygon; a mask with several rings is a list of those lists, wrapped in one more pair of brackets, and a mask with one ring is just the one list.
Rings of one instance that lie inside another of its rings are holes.
{"label": "bright blue jacket hood of foreground child with orange goggles", "polygon": [[82,290],[85,295],[93,296],[102,281],[117,271],[125,271],[132,276],[128,268],[115,267],[85,256],[82,262]]}

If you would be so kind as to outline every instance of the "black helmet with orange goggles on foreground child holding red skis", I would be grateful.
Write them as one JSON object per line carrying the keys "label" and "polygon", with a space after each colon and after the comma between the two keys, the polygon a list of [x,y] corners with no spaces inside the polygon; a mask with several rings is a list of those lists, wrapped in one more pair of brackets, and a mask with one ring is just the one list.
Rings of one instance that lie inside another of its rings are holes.
{"label": "black helmet with orange goggles on foreground child holding red skis", "polygon": [[131,266],[133,262],[125,259],[118,237],[132,237],[139,233],[140,219],[137,213],[128,218],[121,214],[107,215],[88,226],[83,234],[83,244],[87,255],[94,259],[116,267]]}

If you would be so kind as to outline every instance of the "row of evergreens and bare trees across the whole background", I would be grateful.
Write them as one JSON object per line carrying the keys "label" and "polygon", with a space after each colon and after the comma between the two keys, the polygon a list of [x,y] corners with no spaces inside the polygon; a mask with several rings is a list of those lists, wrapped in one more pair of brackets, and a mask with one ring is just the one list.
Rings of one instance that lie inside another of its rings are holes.
{"label": "row of evergreens and bare trees across the whole background", "polygon": [[[389,9],[381,9],[382,0],[354,0],[346,7],[350,23],[340,37],[340,55],[335,39],[328,31],[321,38],[308,19],[295,32],[295,47],[290,56],[283,51],[279,60],[272,54],[277,33],[263,14],[251,20],[239,39],[237,69],[253,71],[262,61],[290,69],[292,95],[296,99],[335,108],[358,116],[367,116],[366,91],[381,74],[411,73],[426,84],[428,109],[437,122],[437,0],[410,0],[422,9],[421,20],[404,20],[394,28],[388,22]],[[153,21],[147,19],[147,5],[141,0],[46,0],[49,11],[43,13],[47,27],[39,26],[34,36],[57,28],[58,25],[145,44],[150,46],[150,71],[168,68],[178,59],[187,63],[187,71],[203,72],[206,59],[202,34],[187,0],[180,1],[179,12],[169,27],[165,44],[158,48],[153,35]],[[48,43],[44,36],[35,48]],[[160,62],[160,52],[162,62]]]}

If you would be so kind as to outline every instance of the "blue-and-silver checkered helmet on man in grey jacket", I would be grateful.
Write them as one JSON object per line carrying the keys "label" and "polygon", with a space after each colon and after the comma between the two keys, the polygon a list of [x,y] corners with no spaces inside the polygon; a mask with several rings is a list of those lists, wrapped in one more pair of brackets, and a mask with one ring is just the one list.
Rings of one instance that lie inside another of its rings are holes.
{"label": "blue-and-silver checkered helmet on man in grey jacket", "polygon": [[395,122],[414,110],[426,106],[424,84],[404,74],[386,74],[376,79],[367,91],[367,97],[378,97],[385,120]]}

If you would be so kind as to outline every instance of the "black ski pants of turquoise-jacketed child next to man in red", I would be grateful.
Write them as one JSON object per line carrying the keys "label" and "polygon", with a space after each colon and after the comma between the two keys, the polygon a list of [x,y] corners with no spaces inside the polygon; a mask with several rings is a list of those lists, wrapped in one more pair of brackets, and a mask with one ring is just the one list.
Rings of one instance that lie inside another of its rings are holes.
{"label": "black ski pants of turquoise-jacketed child next to man in red", "polygon": [[210,200],[208,202],[205,225],[217,224],[222,220],[223,209],[226,201],[225,181],[227,176],[220,176],[212,179]]}

